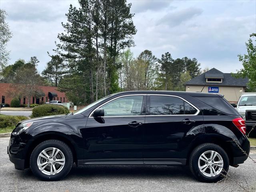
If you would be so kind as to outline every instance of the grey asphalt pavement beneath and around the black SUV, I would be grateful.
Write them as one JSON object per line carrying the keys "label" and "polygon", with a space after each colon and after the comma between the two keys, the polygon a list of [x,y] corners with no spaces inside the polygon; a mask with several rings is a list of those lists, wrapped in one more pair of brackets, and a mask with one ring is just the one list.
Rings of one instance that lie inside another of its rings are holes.
{"label": "grey asphalt pavement beneath and around the black SUV", "polygon": [[[220,183],[198,182],[188,167],[179,166],[73,166],[70,174],[56,182],[43,182],[30,170],[18,171],[6,154],[9,138],[0,138],[0,191],[2,192],[242,192],[238,186],[254,186],[256,164],[252,160],[230,167],[230,179]],[[255,154],[252,155],[256,159]]]}

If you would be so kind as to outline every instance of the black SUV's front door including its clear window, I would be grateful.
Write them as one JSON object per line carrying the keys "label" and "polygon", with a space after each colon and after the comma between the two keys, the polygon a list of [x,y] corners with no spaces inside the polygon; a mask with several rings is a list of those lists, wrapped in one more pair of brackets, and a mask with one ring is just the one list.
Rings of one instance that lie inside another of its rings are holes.
{"label": "black SUV's front door including its clear window", "polygon": [[90,116],[82,131],[88,164],[143,164],[146,95],[121,96],[99,108],[104,116]]}

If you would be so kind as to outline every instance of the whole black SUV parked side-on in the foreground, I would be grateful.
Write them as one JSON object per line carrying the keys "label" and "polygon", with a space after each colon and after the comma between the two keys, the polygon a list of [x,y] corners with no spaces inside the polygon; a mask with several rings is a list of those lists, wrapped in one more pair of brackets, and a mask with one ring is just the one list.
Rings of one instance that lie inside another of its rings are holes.
{"label": "whole black SUV parked side-on in the foreground", "polygon": [[76,163],[188,165],[199,180],[216,182],[247,159],[245,132],[219,94],[120,92],[74,114],[19,122],[8,154],[16,169],[42,180],[61,179]]}

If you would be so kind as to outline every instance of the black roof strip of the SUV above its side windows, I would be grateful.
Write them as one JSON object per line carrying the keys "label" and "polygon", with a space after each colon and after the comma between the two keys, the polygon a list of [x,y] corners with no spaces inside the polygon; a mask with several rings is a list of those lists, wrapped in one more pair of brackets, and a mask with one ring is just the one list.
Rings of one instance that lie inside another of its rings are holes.
{"label": "black roof strip of the SUV above its side windows", "polygon": [[193,97],[223,97],[222,94],[214,93],[201,93],[201,92],[185,92],[185,91],[125,91],[118,92],[113,95],[125,95],[125,94],[162,94],[162,95],[175,95],[175,96],[193,96]]}

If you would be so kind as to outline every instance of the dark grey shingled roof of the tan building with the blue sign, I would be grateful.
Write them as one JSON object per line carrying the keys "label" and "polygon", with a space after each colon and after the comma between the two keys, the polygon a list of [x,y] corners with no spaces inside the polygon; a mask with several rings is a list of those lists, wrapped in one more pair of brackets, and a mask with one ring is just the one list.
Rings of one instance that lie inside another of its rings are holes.
{"label": "dark grey shingled roof of the tan building with the blue sign", "polygon": [[[215,78],[222,78],[222,83],[213,82],[209,83],[206,82],[206,78],[215,77]],[[212,68],[207,72],[192,78],[185,85],[218,85],[218,86],[243,86],[246,87],[248,83],[248,78],[234,78],[231,76],[230,73],[222,73],[221,71],[217,70],[216,68]]]}

